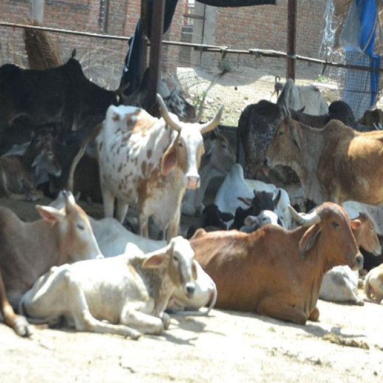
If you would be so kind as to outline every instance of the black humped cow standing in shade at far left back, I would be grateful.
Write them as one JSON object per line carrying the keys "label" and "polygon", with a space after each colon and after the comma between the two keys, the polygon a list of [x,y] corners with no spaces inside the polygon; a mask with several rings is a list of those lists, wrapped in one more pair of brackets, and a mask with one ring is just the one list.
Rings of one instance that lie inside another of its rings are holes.
{"label": "black humped cow standing in shade at far left back", "polygon": [[13,122],[27,115],[34,124],[60,123],[62,139],[72,130],[91,130],[121,89],[104,89],[88,80],[71,57],[58,67],[34,70],[13,64],[0,67],[0,145]]}

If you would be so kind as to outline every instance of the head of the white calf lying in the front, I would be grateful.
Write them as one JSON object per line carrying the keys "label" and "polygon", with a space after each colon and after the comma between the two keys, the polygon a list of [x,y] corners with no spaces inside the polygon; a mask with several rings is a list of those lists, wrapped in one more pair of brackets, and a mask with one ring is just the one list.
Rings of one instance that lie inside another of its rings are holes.
{"label": "head of the white calf lying in the front", "polygon": [[165,248],[149,253],[142,266],[144,268],[157,268],[165,262],[172,283],[182,288],[189,299],[193,298],[197,267],[194,251],[189,241],[181,236],[172,238]]}

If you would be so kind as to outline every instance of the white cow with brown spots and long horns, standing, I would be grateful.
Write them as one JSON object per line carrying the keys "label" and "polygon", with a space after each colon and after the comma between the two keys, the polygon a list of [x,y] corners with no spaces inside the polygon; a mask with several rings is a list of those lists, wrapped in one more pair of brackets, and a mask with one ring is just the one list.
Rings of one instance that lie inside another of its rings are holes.
{"label": "white cow with brown spots and long horns, standing", "polygon": [[[200,186],[202,135],[217,127],[223,106],[212,121],[190,124],[169,113],[159,94],[157,102],[159,119],[140,108],[111,105],[95,141],[105,217],[113,217],[117,199],[116,218],[123,222],[131,204],[139,211],[139,234],[149,236],[149,217],[153,216],[169,242],[178,234],[185,188]],[[84,146],[76,160],[83,152]],[[74,169],[75,160],[71,174]]]}

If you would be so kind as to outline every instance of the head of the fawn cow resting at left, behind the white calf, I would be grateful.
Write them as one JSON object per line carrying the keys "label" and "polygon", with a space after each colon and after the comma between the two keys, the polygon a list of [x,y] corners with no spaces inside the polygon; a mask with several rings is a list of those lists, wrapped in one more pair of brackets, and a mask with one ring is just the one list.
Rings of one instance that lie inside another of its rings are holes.
{"label": "head of the fawn cow resting at left, behind the white calf", "polygon": [[102,258],[85,211],[76,204],[71,193],[64,192],[62,195],[65,205],[60,210],[53,206],[36,205],[46,222],[58,225],[61,262]]}

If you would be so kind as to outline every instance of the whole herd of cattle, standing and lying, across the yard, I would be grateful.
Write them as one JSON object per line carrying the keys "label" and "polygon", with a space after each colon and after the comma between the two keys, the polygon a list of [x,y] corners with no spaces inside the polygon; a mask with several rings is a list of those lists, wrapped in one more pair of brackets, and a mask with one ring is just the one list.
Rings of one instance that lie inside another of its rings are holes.
{"label": "whole herd of cattle, standing and lying, across the yard", "polygon": [[[157,118],[137,106],[142,94],[95,85],[74,57],[0,67],[0,194],[53,199],[28,223],[0,207],[4,323],[29,336],[30,323],[64,318],[137,339],[167,329],[172,312],[215,306],[305,324],[318,321],[318,298],[363,304],[360,251],[379,255],[383,234],[381,113],[356,121],[344,102],[327,107],[316,87],[288,79],[276,104],[245,108],[235,156],[217,129],[223,107],[200,124],[179,94],[162,93]],[[224,181],[208,201],[214,177]],[[61,189],[102,202],[105,218]],[[314,209],[292,207],[297,189]],[[183,228],[181,213],[198,223]],[[364,285],[380,303],[383,266]]]}

